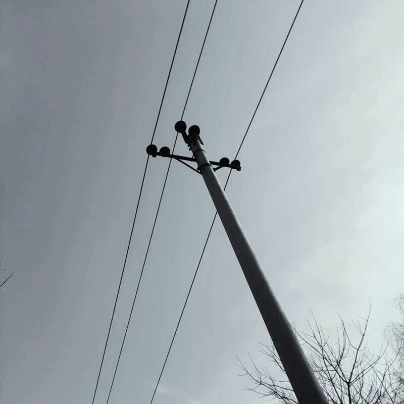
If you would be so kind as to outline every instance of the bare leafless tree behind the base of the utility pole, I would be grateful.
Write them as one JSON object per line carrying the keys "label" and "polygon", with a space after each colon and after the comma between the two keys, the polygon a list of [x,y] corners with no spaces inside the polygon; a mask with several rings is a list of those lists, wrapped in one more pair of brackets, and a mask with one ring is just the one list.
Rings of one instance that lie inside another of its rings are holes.
{"label": "bare leafless tree behind the base of the utility pole", "polygon": [[[310,332],[295,330],[330,404],[404,403],[404,386],[396,378],[396,358],[388,360],[386,349],[377,354],[370,353],[366,334],[369,316],[370,311],[367,318],[354,322],[357,343],[349,336],[341,318],[335,343],[330,341],[329,333],[314,316],[312,323],[308,322]],[[258,367],[250,356],[249,365],[239,361],[243,376],[250,382],[244,387],[263,397],[276,399],[278,403],[298,404],[274,346],[263,344],[261,352],[275,365],[276,371]],[[279,377],[275,376],[276,373]]]}

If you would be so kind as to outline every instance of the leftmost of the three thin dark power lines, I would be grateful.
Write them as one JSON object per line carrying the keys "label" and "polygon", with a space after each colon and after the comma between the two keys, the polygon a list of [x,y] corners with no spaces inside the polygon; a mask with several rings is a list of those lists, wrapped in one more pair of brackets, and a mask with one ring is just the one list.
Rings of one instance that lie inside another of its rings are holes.
{"label": "leftmost of the three thin dark power lines", "polygon": [[[181,38],[182,28],[183,28],[184,22],[185,22],[185,17],[186,17],[186,14],[187,14],[187,12],[188,12],[189,2],[190,2],[190,0],[187,1],[186,7],[185,7],[185,12],[184,12],[184,16],[183,16],[183,18],[182,18],[182,23],[181,23],[180,32],[179,32],[179,34],[178,34],[177,42],[176,42],[176,44],[175,44],[175,49],[174,49],[173,58],[172,58],[172,60],[171,60],[170,69],[169,69],[169,71],[168,71],[168,76],[167,76],[167,80],[166,80],[166,85],[164,86],[164,91],[163,91],[163,95],[162,95],[162,99],[161,99],[161,103],[160,103],[160,107],[159,107],[159,112],[158,112],[158,114],[157,114],[156,123],[155,123],[155,127],[154,127],[154,129],[153,129],[153,134],[151,135],[150,143],[153,143],[153,139],[154,139],[155,134],[156,134],[157,124],[158,124],[159,119],[160,119],[160,113],[161,113],[161,110],[162,110],[162,107],[163,107],[163,102],[164,102],[164,98],[165,98],[165,95],[166,95],[166,91],[167,91],[167,87],[168,87],[168,82],[169,82],[169,80],[170,80],[170,76],[171,76],[171,71],[172,71],[173,64],[174,64],[175,55],[176,55],[176,53],[177,53],[178,43],[179,43],[180,38]],[[99,365],[97,381],[96,381],[96,383],[95,383],[94,394],[93,394],[93,396],[92,396],[92,404],[94,404],[95,395],[96,395],[96,393],[97,393],[97,388],[98,388],[98,383],[99,383],[99,377],[100,377],[100,375],[101,375],[101,371],[102,371],[102,368],[103,368],[104,358],[105,358],[105,352],[107,351],[107,345],[108,345],[108,341],[109,341],[110,334],[111,334],[112,323],[113,323],[113,321],[114,321],[114,316],[115,316],[115,311],[116,311],[116,307],[117,307],[118,297],[119,297],[119,293],[120,293],[120,291],[121,291],[122,279],[123,279],[123,275],[124,275],[125,268],[126,268],[126,261],[127,261],[127,259],[128,259],[128,253],[129,253],[130,243],[131,243],[131,241],[132,241],[133,229],[134,229],[134,227],[135,227],[135,222],[136,222],[137,212],[138,212],[138,209],[139,209],[140,197],[141,197],[142,190],[143,190],[144,178],[145,178],[145,176],[146,176],[146,171],[147,171],[147,166],[148,166],[149,157],[150,157],[150,156],[147,156],[146,164],[145,164],[145,166],[144,166],[143,177],[142,177],[142,181],[141,181],[141,185],[140,185],[140,190],[139,190],[139,196],[138,196],[138,198],[137,198],[137,204],[136,204],[136,209],[135,209],[135,215],[134,215],[134,218],[133,218],[132,228],[131,228],[131,231],[130,231],[128,246],[127,246],[127,248],[126,248],[125,260],[124,260],[123,267],[122,267],[121,278],[120,278],[120,280],[119,280],[118,291],[117,291],[117,294],[116,294],[116,297],[115,297],[114,309],[113,309],[113,311],[112,311],[111,321],[110,321],[110,325],[109,325],[109,328],[108,328],[107,339],[106,339],[106,341],[105,341],[105,346],[104,346],[103,357],[102,357],[102,360],[101,360],[101,364]]]}

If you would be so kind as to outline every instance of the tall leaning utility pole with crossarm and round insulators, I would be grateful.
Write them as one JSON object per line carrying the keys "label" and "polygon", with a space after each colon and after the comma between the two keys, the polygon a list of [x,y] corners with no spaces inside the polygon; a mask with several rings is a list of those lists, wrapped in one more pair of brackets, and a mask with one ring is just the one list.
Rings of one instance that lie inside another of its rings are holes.
{"label": "tall leaning utility pole with crossarm and round insulators", "polygon": [[[187,134],[185,122],[179,121],[175,124],[175,130],[181,133],[192,151],[192,158],[172,155],[168,147],[162,147],[157,151],[154,144],[147,146],[147,153],[153,157],[162,156],[178,160],[203,176],[299,404],[328,404],[215,174],[215,171],[222,167],[240,171],[240,162],[234,160],[230,163],[227,158],[221,159],[220,162],[209,161],[203,148],[204,143],[199,137],[199,127],[196,125],[192,125]],[[197,169],[185,161],[195,162]]]}

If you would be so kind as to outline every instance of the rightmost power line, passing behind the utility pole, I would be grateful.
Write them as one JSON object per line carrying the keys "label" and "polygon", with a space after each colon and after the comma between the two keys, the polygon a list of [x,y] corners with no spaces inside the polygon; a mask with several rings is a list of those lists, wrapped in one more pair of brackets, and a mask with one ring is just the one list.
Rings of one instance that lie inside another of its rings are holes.
{"label": "rightmost power line, passing behind the utility pole", "polygon": [[[238,150],[237,150],[237,153],[236,153],[236,155],[235,155],[234,160],[237,159],[237,157],[238,157],[238,155],[239,155],[239,153],[240,153],[241,147],[242,147],[242,145],[243,145],[243,143],[244,143],[244,140],[245,140],[245,138],[246,138],[246,136],[247,136],[247,133],[248,133],[248,131],[249,131],[249,128],[251,127],[252,121],[254,120],[254,118],[255,118],[255,116],[256,116],[256,113],[257,113],[257,111],[258,111],[258,108],[260,107],[261,101],[262,101],[262,99],[263,99],[263,97],[264,97],[264,94],[265,94],[265,92],[266,92],[266,90],[267,90],[268,84],[269,84],[269,82],[270,82],[270,80],[271,80],[271,77],[272,77],[274,71],[275,71],[276,65],[278,64],[279,58],[280,58],[280,56],[281,56],[281,54],[282,54],[282,52],[283,52],[283,48],[285,47],[285,44],[286,44],[286,42],[287,42],[287,39],[289,38],[289,34],[290,34],[290,32],[291,32],[291,30],[292,30],[292,28],[293,28],[294,22],[296,21],[296,18],[297,18],[297,16],[298,16],[299,12],[300,12],[300,8],[301,8],[303,2],[304,2],[304,0],[301,0],[300,5],[299,5],[299,7],[298,7],[298,9],[297,9],[297,12],[296,12],[296,14],[295,14],[295,16],[294,16],[294,18],[293,18],[293,21],[292,21],[292,23],[291,23],[291,25],[290,25],[289,31],[288,31],[288,33],[287,33],[287,35],[286,35],[286,38],[285,38],[284,42],[283,42],[283,45],[282,45],[282,47],[281,47],[281,50],[280,50],[280,52],[279,52],[279,54],[278,54],[278,57],[277,57],[277,59],[276,59],[276,61],[275,61],[274,66],[273,66],[273,68],[272,68],[272,70],[271,70],[271,74],[269,75],[269,78],[268,78],[268,80],[267,80],[267,83],[266,83],[265,86],[264,86],[264,90],[263,90],[263,92],[262,92],[262,94],[261,94],[261,97],[260,97],[260,99],[259,99],[259,101],[258,101],[258,104],[257,104],[257,106],[256,106],[256,108],[255,108],[255,110],[254,110],[254,113],[252,114],[251,120],[249,121],[249,124],[248,124],[248,126],[247,126],[247,129],[246,129],[246,131],[245,131],[245,133],[244,133],[244,136],[243,136],[243,138],[242,138],[242,140],[241,140],[240,146],[238,147]],[[225,185],[224,185],[224,190],[226,190],[227,184],[229,183],[230,175],[231,175],[231,172],[232,172],[232,171],[233,171],[233,170],[230,170],[230,171],[229,171],[229,174],[228,174],[227,179],[226,179],[226,183],[225,183]],[[189,286],[188,293],[187,293],[187,295],[186,295],[185,302],[184,302],[184,305],[183,305],[182,310],[181,310],[180,317],[179,317],[178,322],[177,322],[177,326],[175,327],[175,331],[174,331],[173,337],[172,337],[172,339],[171,339],[170,346],[169,346],[169,348],[168,348],[167,355],[166,355],[166,358],[165,358],[165,360],[164,360],[162,370],[161,370],[160,375],[159,375],[159,379],[158,379],[158,381],[157,381],[155,390],[154,390],[154,392],[153,392],[153,396],[151,397],[151,400],[150,400],[150,404],[153,403],[153,399],[154,399],[154,397],[155,397],[155,395],[156,395],[157,388],[158,388],[158,386],[159,386],[161,377],[162,377],[163,372],[164,372],[164,368],[165,368],[165,366],[166,366],[168,357],[169,357],[169,355],[170,355],[170,351],[171,351],[171,348],[172,348],[172,346],[173,346],[174,339],[175,339],[175,337],[176,337],[176,335],[177,335],[178,327],[179,327],[179,325],[180,325],[180,322],[181,322],[181,319],[182,319],[182,315],[184,314],[185,307],[186,307],[186,305],[187,305],[189,295],[190,295],[190,293],[191,293],[191,290],[192,290],[192,287],[193,287],[193,284],[194,284],[196,275],[197,275],[198,270],[199,270],[199,267],[200,267],[200,263],[201,263],[201,261],[202,261],[202,258],[203,258],[203,256],[204,256],[204,254],[205,254],[205,249],[206,249],[206,246],[208,245],[209,237],[211,236],[212,229],[213,229],[213,226],[214,226],[214,224],[215,224],[215,220],[216,220],[217,215],[218,215],[218,213],[216,212],[216,213],[215,213],[215,216],[213,217],[212,224],[211,224],[211,227],[210,227],[210,229],[209,229],[208,236],[207,236],[207,238],[206,238],[204,247],[203,247],[202,252],[201,252],[201,254],[200,254],[199,261],[198,261],[198,264],[197,264],[197,266],[196,266],[195,273],[194,273],[194,275],[193,275],[191,284],[190,284],[190,286]]]}

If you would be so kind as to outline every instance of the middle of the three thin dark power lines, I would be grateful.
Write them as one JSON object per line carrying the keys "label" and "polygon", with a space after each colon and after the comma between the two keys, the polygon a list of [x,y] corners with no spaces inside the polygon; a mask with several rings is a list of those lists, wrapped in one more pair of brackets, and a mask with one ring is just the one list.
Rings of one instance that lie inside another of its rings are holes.
{"label": "middle of the three thin dark power lines", "polygon": [[[207,30],[206,30],[205,37],[204,37],[204,41],[203,41],[202,46],[201,46],[201,48],[200,48],[200,52],[199,52],[198,60],[197,60],[197,62],[196,62],[195,70],[194,70],[194,72],[193,72],[191,84],[190,84],[190,86],[189,86],[189,90],[188,90],[188,93],[187,93],[187,96],[186,96],[186,99],[185,99],[185,104],[184,104],[184,108],[183,108],[183,110],[182,110],[181,119],[182,119],[183,116],[184,116],[184,113],[185,113],[185,110],[186,110],[186,107],[187,107],[187,104],[188,104],[189,95],[190,95],[190,93],[191,93],[191,89],[192,89],[192,86],[193,86],[193,82],[194,82],[194,80],[195,80],[196,72],[197,72],[198,67],[199,67],[200,58],[201,58],[202,53],[203,53],[203,51],[204,51],[206,39],[207,39],[207,37],[208,37],[208,33],[209,33],[210,28],[211,28],[212,19],[213,19],[213,16],[214,16],[214,14],[215,14],[215,10],[216,10],[216,5],[217,5],[217,3],[218,3],[218,0],[215,0],[215,4],[214,4],[214,6],[213,6],[213,10],[212,10],[212,14],[211,14],[211,17],[210,17],[210,20],[209,20],[208,28],[207,28]],[[173,144],[173,153],[174,153],[174,149],[175,149],[175,146],[176,146],[176,143],[177,143],[177,139],[178,139],[178,132],[177,132],[177,134],[176,134],[176,136],[175,136],[175,140],[174,140],[174,144]],[[168,174],[169,174],[169,172],[170,172],[171,163],[172,163],[172,159],[170,159],[170,162],[169,162],[168,167],[167,167],[166,177],[165,177],[165,179],[164,179],[163,188],[162,188],[161,195],[160,195],[160,200],[159,200],[159,205],[158,205],[158,207],[157,207],[157,211],[156,211],[156,216],[155,216],[155,220],[154,220],[154,223],[153,223],[153,227],[151,228],[151,233],[150,233],[150,237],[149,237],[148,244],[147,244],[146,254],[145,254],[145,256],[144,256],[144,260],[143,260],[143,264],[142,264],[142,269],[141,269],[141,271],[140,271],[139,280],[138,280],[138,283],[137,283],[137,286],[136,286],[136,291],[135,291],[135,295],[134,295],[133,302],[132,302],[132,307],[131,307],[130,314],[129,314],[129,318],[128,318],[128,321],[127,321],[127,324],[126,324],[125,334],[124,334],[124,337],[123,337],[123,340],[122,340],[122,344],[121,344],[121,348],[120,348],[120,351],[119,351],[118,361],[117,361],[117,364],[116,364],[116,366],[115,366],[114,376],[113,376],[113,378],[112,378],[112,382],[111,382],[111,386],[110,386],[110,391],[109,391],[109,393],[108,393],[107,404],[108,404],[108,402],[109,402],[109,400],[110,400],[110,397],[111,397],[112,387],[113,387],[113,385],[114,385],[115,376],[116,376],[116,374],[117,374],[119,362],[120,362],[120,360],[121,360],[122,350],[123,350],[123,346],[124,346],[125,340],[126,340],[126,334],[127,334],[127,332],[128,332],[129,323],[130,323],[130,320],[131,320],[131,318],[132,318],[133,308],[134,308],[134,306],[135,306],[135,302],[136,302],[136,298],[137,298],[137,293],[138,293],[139,286],[140,286],[140,282],[141,282],[142,275],[143,275],[144,266],[145,266],[145,264],[146,264],[146,260],[147,260],[147,256],[148,256],[148,251],[149,251],[149,248],[150,248],[151,239],[153,238],[153,234],[154,234],[154,230],[155,230],[155,227],[156,227],[157,218],[158,218],[158,216],[159,216],[160,206],[161,206],[161,202],[162,202],[162,199],[163,199],[163,194],[164,194],[164,191],[165,191],[165,188],[166,188],[167,178],[168,178]]]}

